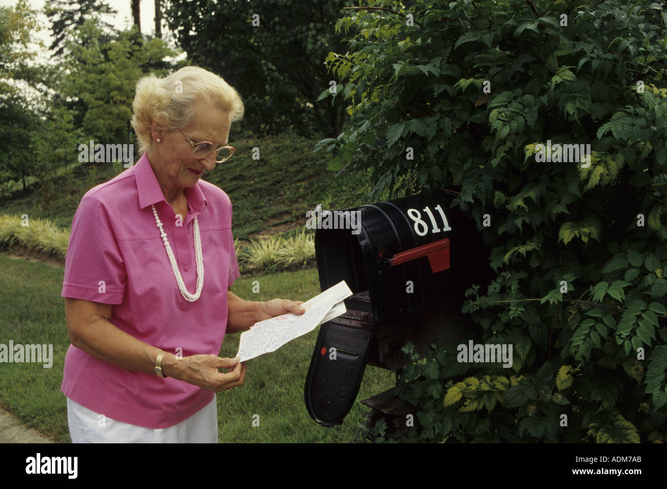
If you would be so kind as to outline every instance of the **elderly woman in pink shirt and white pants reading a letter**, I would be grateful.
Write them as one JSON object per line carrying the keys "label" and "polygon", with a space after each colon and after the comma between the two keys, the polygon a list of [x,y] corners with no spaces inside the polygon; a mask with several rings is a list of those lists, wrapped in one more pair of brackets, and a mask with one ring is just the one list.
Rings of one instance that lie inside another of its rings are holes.
{"label": "elderly woman in pink shirt and white pants reading a letter", "polygon": [[302,303],[229,291],[231,202],[201,178],[233,154],[237,91],[185,67],[141,79],[133,111],[143,155],[89,190],[72,222],[61,294],[69,430],[75,443],[215,443],[215,392],[245,378],[238,358],[218,356],[225,333],[302,314]]}

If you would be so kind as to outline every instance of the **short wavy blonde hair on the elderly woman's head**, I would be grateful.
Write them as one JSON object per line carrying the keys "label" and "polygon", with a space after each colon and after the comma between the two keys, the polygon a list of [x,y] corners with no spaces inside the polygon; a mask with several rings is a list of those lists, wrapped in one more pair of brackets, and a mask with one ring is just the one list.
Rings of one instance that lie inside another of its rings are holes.
{"label": "short wavy blonde hair on the elderly woman's head", "polygon": [[239,93],[224,79],[196,66],[186,66],[164,78],[147,75],[137,81],[132,104],[132,127],[139,139],[139,154],[151,149],[151,121],[175,131],[189,124],[194,104],[203,101],[229,113],[231,122],[243,117]]}

